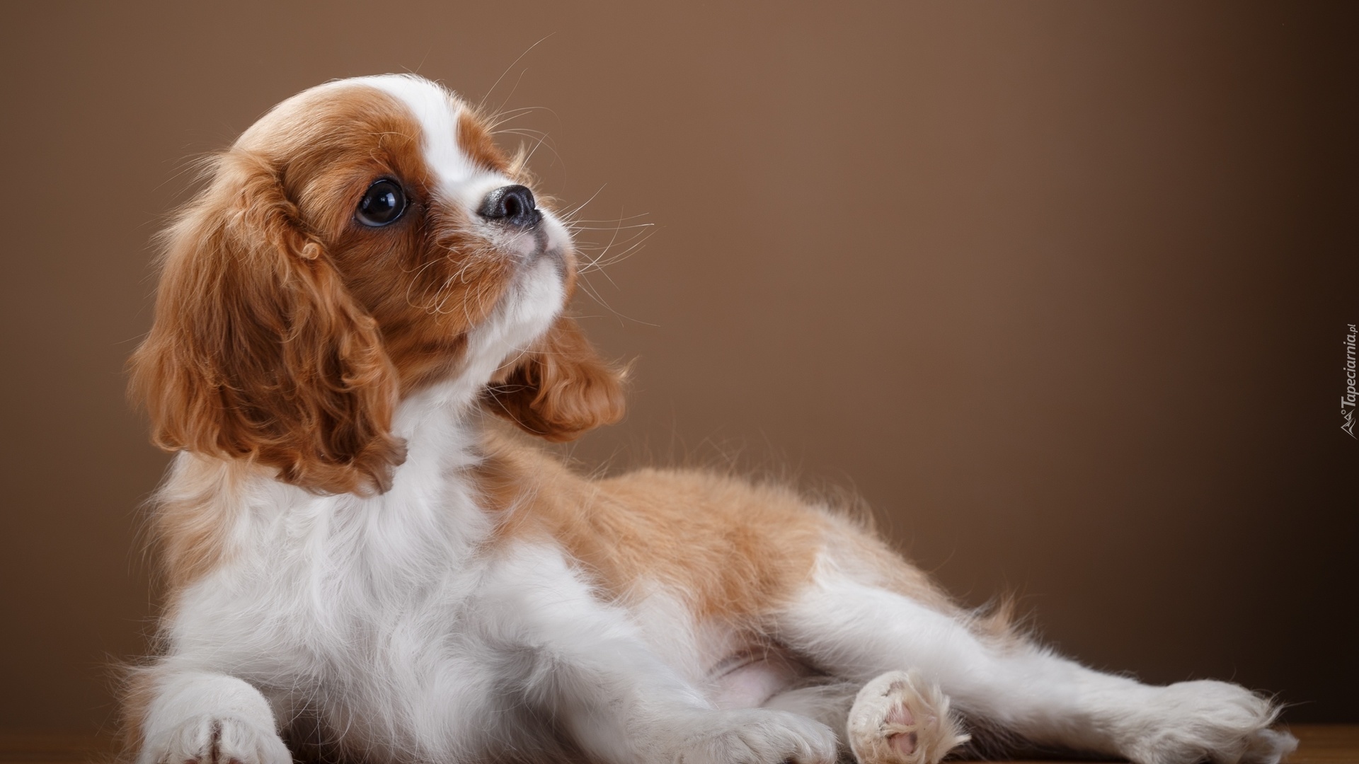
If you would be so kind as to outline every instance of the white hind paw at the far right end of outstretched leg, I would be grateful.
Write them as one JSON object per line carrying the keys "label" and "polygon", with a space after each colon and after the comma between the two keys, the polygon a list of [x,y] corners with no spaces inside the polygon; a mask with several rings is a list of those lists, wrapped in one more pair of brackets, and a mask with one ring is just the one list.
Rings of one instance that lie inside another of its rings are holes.
{"label": "white hind paw at the far right end of outstretched leg", "polygon": [[1139,764],[1277,764],[1298,740],[1271,730],[1279,711],[1243,687],[1189,681],[1158,688],[1121,746]]}

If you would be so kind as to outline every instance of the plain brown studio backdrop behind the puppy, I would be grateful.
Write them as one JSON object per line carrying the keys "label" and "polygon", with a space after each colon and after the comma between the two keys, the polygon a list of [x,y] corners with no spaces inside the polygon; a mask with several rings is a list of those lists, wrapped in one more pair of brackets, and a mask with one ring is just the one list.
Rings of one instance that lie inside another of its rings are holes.
{"label": "plain brown studio backdrop behind the puppy", "polygon": [[652,224],[579,305],[640,360],[631,417],[578,455],[851,487],[962,598],[1018,591],[1083,661],[1359,720],[1337,402],[1355,22],[1178,0],[7,7],[0,727],[106,725],[103,667],[144,644],[136,506],[166,457],[121,367],[185,160],[304,87],[391,71],[538,107],[511,126],[549,135],[546,189],[593,197],[584,239]]}

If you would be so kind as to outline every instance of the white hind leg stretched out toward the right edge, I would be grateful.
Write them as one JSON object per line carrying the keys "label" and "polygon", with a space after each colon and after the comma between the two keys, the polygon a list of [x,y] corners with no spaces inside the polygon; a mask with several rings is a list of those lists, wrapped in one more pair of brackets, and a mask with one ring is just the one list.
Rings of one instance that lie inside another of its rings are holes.
{"label": "white hind leg stretched out toward the right edge", "polygon": [[[1269,729],[1277,710],[1245,688],[1218,681],[1148,687],[1094,672],[1018,636],[978,636],[961,619],[843,574],[818,575],[779,617],[777,631],[844,678],[868,682],[913,667],[925,684],[909,695],[928,696],[936,684],[968,718],[1037,744],[1140,764],[1273,764],[1296,745]],[[909,700],[901,706],[912,711],[911,725],[920,723]],[[851,735],[858,712],[856,706]],[[893,729],[881,727],[885,737]],[[879,760],[892,759],[868,757]]]}

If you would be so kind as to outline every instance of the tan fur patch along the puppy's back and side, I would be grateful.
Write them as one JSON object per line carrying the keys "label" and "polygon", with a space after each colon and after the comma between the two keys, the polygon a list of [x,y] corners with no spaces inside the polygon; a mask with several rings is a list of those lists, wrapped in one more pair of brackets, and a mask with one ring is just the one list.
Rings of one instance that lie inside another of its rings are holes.
{"label": "tan fur patch along the puppy's back and side", "polygon": [[499,434],[476,480],[501,513],[500,542],[554,540],[610,595],[659,585],[699,619],[749,623],[779,608],[810,580],[830,530],[784,487],[659,469],[587,480]]}

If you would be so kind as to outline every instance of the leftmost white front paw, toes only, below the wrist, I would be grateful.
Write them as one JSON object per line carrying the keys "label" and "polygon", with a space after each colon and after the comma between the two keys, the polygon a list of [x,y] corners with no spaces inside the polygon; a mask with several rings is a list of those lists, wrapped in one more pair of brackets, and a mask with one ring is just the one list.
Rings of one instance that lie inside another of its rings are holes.
{"label": "leftmost white front paw, toes only, below the wrist", "polygon": [[198,716],[148,740],[137,764],[291,764],[272,729],[235,716]]}

